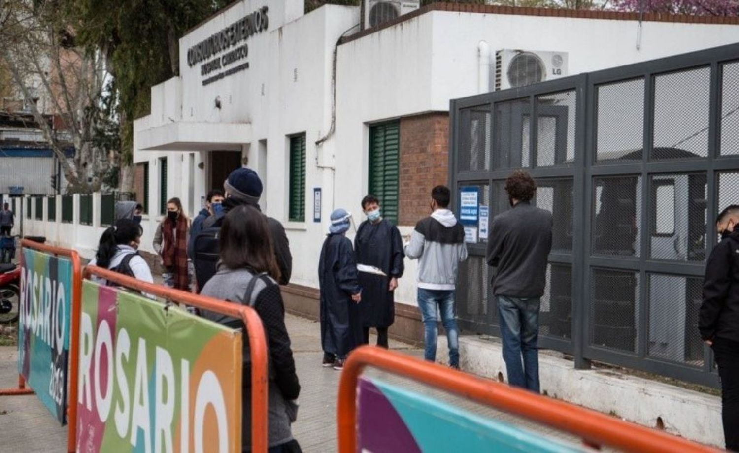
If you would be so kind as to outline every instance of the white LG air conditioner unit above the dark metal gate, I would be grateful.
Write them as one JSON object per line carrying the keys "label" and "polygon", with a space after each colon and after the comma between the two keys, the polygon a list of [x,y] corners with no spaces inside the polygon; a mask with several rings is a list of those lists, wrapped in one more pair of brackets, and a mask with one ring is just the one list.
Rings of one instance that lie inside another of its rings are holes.
{"label": "white LG air conditioner unit above the dark metal gate", "polygon": [[490,88],[498,91],[566,77],[567,59],[567,52],[498,50]]}

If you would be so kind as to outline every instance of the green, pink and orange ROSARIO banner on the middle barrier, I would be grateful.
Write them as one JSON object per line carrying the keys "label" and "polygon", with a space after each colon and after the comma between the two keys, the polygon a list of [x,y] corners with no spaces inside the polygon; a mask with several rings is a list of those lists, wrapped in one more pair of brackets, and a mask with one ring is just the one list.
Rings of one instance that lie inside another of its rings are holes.
{"label": "green, pink and orange ROSARIO banner on the middle barrier", "polygon": [[84,281],[78,452],[240,452],[241,375],[240,331]]}

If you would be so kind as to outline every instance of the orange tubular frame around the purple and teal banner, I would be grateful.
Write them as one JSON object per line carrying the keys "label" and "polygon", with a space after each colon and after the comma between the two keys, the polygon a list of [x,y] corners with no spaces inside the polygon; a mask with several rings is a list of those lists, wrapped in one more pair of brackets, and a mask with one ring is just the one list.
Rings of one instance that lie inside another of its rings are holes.
{"label": "orange tubular frame around the purple and teal banner", "polygon": [[582,437],[591,447],[612,446],[627,452],[718,452],[689,440],[609,415],[536,395],[524,389],[477,378],[439,364],[374,346],[354,350],[344,364],[338,387],[338,451],[356,452],[356,389],[364,367],[412,378],[478,403],[520,415]]}

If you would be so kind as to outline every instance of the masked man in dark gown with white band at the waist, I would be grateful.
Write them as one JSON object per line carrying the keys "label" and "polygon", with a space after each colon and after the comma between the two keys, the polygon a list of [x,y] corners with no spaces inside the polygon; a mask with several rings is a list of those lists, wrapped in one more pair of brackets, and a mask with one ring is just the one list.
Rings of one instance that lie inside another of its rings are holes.
{"label": "masked man in dark gown with white band at the waist", "polygon": [[387,329],[395,321],[395,288],[403,276],[403,239],[392,223],[382,218],[377,197],[362,200],[367,220],[359,225],[354,239],[354,253],[362,287],[359,304],[364,344],[369,343],[369,329],[377,329],[377,345],[387,348]]}

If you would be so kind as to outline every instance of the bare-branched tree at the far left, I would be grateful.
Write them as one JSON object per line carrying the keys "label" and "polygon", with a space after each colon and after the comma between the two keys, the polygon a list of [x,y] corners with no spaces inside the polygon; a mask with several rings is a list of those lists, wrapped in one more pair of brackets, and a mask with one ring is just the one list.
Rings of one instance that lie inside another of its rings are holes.
{"label": "bare-branched tree at the far left", "polygon": [[0,0],[0,66],[61,163],[68,190],[90,192],[101,188],[118,151],[115,90],[102,55],[75,44],[67,13],[56,1]]}

